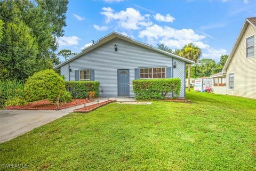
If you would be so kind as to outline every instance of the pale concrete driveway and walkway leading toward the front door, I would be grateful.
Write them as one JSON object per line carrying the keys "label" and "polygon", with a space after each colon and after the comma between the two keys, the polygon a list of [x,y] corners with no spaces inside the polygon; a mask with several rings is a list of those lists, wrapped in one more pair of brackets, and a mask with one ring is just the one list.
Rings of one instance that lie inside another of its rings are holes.
{"label": "pale concrete driveway and walkway leading toward the front door", "polygon": [[[99,103],[106,101],[100,98]],[[86,103],[96,104],[97,101]],[[67,115],[73,110],[84,107],[84,104],[61,110],[0,110],[0,142],[8,141],[32,129],[50,123]]]}

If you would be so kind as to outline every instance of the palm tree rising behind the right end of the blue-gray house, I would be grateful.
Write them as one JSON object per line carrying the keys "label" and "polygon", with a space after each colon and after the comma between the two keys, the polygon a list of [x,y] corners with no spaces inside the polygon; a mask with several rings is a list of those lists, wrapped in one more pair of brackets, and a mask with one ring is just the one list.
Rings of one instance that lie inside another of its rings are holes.
{"label": "palm tree rising behind the right end of the blue-gray house", "polygon": [[[183,58],[192,60],[197,63],[201,56],[201,48],[195,46],[193,43],[185,45],[179,52]],[[190,65],[188,66],[188,91],[190,91]]]}

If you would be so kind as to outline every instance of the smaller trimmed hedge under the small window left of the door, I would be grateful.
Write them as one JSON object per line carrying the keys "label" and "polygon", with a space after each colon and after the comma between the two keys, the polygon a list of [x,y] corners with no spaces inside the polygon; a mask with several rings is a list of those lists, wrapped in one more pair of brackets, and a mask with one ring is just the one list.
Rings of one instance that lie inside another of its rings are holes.
{"label": "smaller trimmed hedge under the small window left of the door", "polygon": [[95,92],[95,97],[99,96],[100,82],[97,81],[69,81],[65,82],[65,86],[74,99],[89,97],[89,92]]}

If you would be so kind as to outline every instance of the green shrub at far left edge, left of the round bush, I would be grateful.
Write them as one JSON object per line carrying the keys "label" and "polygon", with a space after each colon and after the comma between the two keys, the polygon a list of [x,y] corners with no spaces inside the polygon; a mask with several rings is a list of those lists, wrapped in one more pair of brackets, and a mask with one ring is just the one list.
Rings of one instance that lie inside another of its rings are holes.
{"label": "green shrub at far left edge, left of the round bush", "polygon": [[9,80],[9,81],[0,81],[0,108],[5,106],[7,100],[11,100],[15,97],[24,96],[24,86],[22,81]]}

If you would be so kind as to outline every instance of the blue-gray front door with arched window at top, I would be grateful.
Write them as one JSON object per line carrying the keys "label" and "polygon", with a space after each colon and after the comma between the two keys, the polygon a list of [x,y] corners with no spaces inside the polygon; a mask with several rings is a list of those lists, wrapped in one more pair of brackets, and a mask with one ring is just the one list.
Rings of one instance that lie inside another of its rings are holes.
{"label": "blue-gray front door with arched window at top", "polygon": [[130,95],[129,69],[118,69],[118,96]]}

